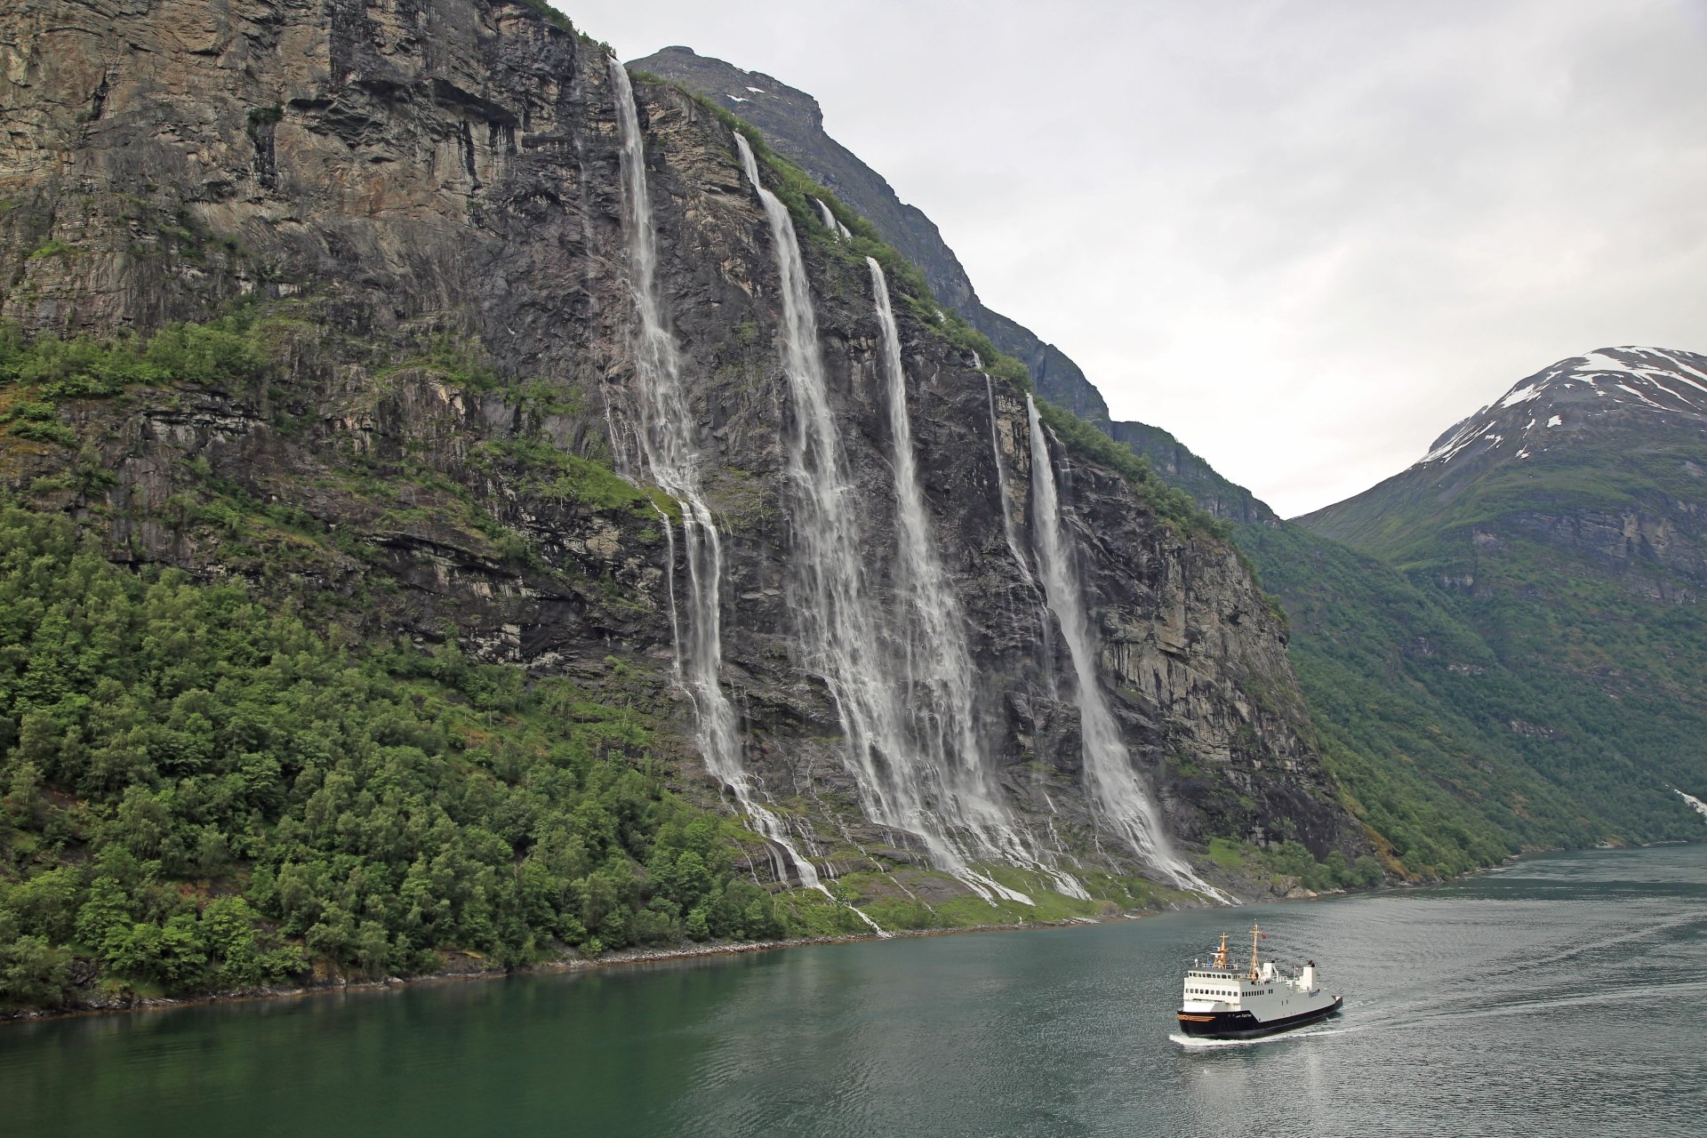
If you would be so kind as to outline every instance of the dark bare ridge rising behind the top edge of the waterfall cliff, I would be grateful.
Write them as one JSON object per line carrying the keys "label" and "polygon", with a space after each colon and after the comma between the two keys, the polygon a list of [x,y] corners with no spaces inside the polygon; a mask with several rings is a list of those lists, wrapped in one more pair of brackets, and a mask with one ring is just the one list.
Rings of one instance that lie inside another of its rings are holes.
{"label": "dark bare ridge rising behind the top edge of the waterfall cliff", "polygon": [[644,60],[632,60],[628,67],[708,96],[758,126],[772,147],[859,210],[884,241],[917,264],[937,300],[953,305],[997,348],[1019,358],[1031,370],[1031,380],[1043,398],[1104,430],[1110,427],[1108,404],[1079,365],[1055,345],[1043,343],[1031,329],[983,307],[935,222],[901,201],[881,174],[824,133],[824,113],[818,99],[763,72],[743,72],[722,60],[696,55],[691,48],[664,48]]}

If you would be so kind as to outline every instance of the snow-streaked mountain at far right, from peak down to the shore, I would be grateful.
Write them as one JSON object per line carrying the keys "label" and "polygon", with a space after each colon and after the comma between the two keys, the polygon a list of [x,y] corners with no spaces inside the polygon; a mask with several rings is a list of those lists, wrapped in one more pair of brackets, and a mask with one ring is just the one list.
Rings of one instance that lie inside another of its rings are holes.
{"label": "snow-streaked mountain at far right, from peak down to the shore", "polygon": [[1586,817],[1635,810],[1628,838],[1680,829],[1666,787],[1707,776],[1704,519],[1707,357],[1603,348],[1299,524],[1405,570],[1473,628],[1531,701],[1500,715],[1540,744],[1536,769]]}

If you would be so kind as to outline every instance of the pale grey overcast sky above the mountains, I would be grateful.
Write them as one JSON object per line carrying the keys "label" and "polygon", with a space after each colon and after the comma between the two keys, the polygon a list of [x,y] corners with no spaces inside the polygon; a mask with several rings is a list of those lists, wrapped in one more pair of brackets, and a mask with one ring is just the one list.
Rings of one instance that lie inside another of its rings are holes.
{"label": "pale grey overcast sky above the mountains", "polygon": [[553,0],[807,90],[980,297],[1282,515],[1707,351],[1707,0]]}

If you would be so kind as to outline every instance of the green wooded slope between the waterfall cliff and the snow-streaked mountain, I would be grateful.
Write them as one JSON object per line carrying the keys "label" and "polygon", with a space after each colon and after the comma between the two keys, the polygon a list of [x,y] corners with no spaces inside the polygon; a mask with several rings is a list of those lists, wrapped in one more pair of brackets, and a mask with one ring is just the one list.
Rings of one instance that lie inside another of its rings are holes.
{"label": "green wooded slope between the waterfall cliff and the snow-streaked mountain", "polygon": [[1630,700],[1509,667],[1468,602],[1297,525],[1246,525],[1239,543],[1292,618],[1323,759],[1408,872],[1697,836],[1642,775],[1649,740],[1623,718]]}

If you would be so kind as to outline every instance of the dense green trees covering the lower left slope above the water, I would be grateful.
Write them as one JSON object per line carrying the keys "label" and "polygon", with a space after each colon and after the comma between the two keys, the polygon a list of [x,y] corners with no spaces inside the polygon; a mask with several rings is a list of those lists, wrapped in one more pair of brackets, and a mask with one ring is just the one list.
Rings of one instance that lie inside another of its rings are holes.
{"label": "dense green trees covering the lower left slope above the water", "polygon": [[655,730],[454,645],[336,650],[5,505],[0,1005],[89,966],[205,991],[787,932],[732,877],[746,836],[666,790]]}

